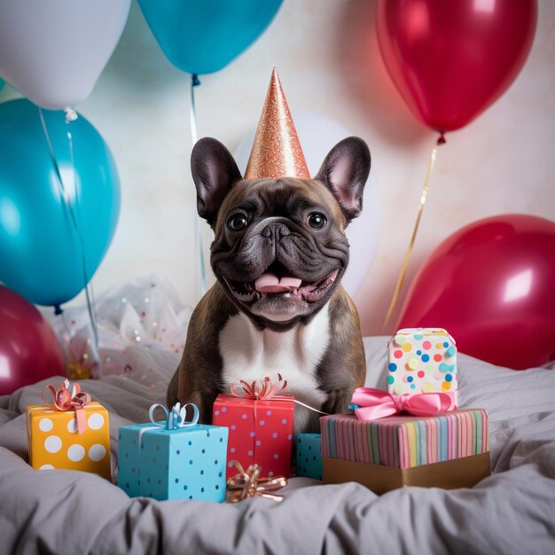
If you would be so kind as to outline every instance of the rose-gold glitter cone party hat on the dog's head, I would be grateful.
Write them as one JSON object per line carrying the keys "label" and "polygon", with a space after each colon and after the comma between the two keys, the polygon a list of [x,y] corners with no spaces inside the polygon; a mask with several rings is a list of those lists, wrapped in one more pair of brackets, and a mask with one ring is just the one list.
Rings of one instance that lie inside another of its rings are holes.
{"label": "rose-gold glitter cone party hat on the dog's head", "polygon": [[245,179],[264,177],[310,179],[309,168],[275,67],[245,172]]}

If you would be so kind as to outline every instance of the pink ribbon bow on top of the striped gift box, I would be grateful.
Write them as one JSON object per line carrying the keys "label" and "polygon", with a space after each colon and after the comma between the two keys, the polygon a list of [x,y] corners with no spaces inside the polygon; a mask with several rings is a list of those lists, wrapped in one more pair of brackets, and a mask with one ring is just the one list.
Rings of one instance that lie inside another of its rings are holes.
{"label": "pink ribbon bow on top of the striped gift box", "polygon": [[434,416],[449,410],[451,399],[445,393],[418,393],[395,395],[374,387],[357,387],[351,403],[359,420],[376,420],[400,412],[414,416]]}

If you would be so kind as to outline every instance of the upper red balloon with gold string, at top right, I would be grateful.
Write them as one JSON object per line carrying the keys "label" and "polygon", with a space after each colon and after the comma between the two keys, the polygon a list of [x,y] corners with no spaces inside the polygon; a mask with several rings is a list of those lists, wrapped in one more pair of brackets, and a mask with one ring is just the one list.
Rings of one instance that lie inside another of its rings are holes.
{"label": "upper red balloon with gold string, at top right", "polygon": [[379,0],[379,49],[418,120],[452,131],[511,85],[536,21],[536,0]]}

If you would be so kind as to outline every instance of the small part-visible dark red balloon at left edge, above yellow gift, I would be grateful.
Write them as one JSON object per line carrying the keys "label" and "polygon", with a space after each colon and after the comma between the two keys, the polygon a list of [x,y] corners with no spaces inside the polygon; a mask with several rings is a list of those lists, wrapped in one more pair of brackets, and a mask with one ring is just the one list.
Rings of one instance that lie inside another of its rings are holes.
{"label": "small part-visible dark red balloon at left edge, above yellow gift", "polygon": [[56,334],[20,294],[0,285],[0,395],[40,379],[65,375]]}

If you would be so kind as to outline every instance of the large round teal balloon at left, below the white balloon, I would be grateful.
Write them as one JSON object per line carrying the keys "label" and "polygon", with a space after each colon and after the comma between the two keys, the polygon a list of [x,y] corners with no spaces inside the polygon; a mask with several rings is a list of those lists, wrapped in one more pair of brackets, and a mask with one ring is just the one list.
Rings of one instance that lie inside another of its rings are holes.
{"label": "large round teal balloon at left, below the white balloon", "polygon": [[120,182],[89,121],[79,116],[66,124],[63,112],[43,114],[80,232],[60,192],[39,109],[25,99],[0,104],[0,281],[28,301],[56,306],[86,285],[83,253],[88,279],[106,254],[120,212]]}

